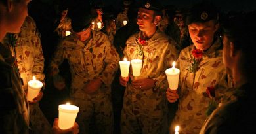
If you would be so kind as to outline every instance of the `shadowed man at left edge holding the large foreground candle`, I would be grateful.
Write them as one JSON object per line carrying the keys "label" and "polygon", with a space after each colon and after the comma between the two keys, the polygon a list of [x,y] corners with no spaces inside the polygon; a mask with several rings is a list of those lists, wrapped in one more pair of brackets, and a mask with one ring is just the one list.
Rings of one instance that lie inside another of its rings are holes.
{"label": "shadowed man at left edge holding the large foreground candle", "polygon": [[[0,41],[7,32],[19,33],[26,16],[30,0],[0,1]],[[29,133],[29,109],[26,93],[18,67],[10,49],[0,42],[0,133]],[[62,131],[53,125],[53,133],[78,133],[75,123],[71,129]]]}

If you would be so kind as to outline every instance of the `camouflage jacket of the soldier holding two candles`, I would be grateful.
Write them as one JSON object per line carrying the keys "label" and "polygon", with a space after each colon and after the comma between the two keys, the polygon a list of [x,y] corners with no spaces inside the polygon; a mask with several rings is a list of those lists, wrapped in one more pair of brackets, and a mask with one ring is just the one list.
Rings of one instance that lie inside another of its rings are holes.
{"label": "camouflage jacket of the soldier holding two candles", "polygon": [[[125,91],[124,107],[128,106],[129,102],[137,102],[138,107],[147,109],[144,112],[140,111],[142,112],[141,114],[148,114],[148,110],[150,110],[151,114],[152,112],[162,113],[162,110],[166,108],[165,91],[168,86],[165,70],[171,67],[171,63],[177,59],[175,42],[163,32],[157,30],[151,39],[141,46],[138,42],[140,34],[141,31],[129,37],[124,55],[129,61],[142,59],[142,70],[140,76],[136,78],[151,78],[156,81],[156,87],[142,91],[135,90],[132,88],[131,83],[128,83]],[[131,72],[130,67],[130,76],[133,76]],[[161,110],[154,111],[156,107],[161,107]]]}

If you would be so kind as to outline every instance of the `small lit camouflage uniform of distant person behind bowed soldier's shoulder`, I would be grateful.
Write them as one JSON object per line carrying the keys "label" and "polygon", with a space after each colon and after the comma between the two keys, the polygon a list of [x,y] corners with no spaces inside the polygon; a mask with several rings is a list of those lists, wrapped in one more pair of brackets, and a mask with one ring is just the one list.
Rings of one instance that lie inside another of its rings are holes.
{"label": "small lit camouflage uniform of distant person behind bowed soldier's shoulder", "polygon": [[60,24],[58,24],[58,27],[54,30],[54,32],[58,33],[58,36],[60,39],[64,39],[66,37],[66,31],[72,31],[71,28],[71,19],[66,16]]}

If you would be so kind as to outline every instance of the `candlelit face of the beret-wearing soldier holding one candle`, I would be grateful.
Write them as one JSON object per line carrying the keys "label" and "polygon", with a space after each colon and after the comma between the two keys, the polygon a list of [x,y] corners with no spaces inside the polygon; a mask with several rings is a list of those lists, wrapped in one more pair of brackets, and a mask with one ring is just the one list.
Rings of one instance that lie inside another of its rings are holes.
{"label": "candlelit face of the beret-wearing soldier holding one candle", "polygon": [[214,20],[189,24],[188,31],[194,46],[200,50],[209,48],[213,44],[214,33],[217,31],[217,28],[218,25]]}

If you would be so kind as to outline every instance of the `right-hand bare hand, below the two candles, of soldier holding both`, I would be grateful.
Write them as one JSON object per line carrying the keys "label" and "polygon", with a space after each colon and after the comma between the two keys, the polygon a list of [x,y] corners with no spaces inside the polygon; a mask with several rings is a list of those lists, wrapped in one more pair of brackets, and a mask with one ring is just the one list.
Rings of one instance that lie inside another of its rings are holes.
{"label": "right-hand bare hand, below the two candles, of soldier holding both", "polygon": [[154,88],[155,80],[150,78],[144,78],[144,79],[133,81],[132,85],[133,85],[133,88],[136,88],[138,90],[148,90],[148,89]]}

